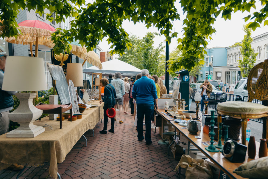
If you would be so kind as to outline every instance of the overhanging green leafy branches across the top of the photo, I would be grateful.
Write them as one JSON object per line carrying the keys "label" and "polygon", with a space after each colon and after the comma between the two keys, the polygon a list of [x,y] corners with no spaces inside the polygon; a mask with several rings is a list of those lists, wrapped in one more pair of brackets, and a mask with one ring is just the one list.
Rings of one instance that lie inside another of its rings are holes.
{"label": "overhanging green leafy branches across the top of the photo", "polygon": [[[253,22],[248,27],[255,30],[268,25],[268,1],[260,0],[262,8],[258,12],[244,18]],[[124,20],[144,22],[146,27],[157,27],[160,35],[171,42],[171,38],[177,37],[173,31],[172,21],[180,20],[180,14],[175,7],[176,0],[95,0],[85,4],[85,0],[2,0],[0,4],[0,36],[17,36],[19,30],[16,22],[19,10],[35,10],[40,15],[44,9],[51,13],[46,18],[53,20],[55,15],[57,23],[64,21],[66,17],[73,17],[70,30],[58,29],[52,40],[56,43],[55,53],[69,52],[71,50],[68,41],[79,41],[79,43],[93,50],[102,39],[108,37],[111,43],[112,53],[123,54],[125,49],[131,47],[127,32],[122,28]],[[180,0],[183,13],[186,18],[183,20],[183,38],[178,39],[177,48],[182,55],[177,60],[170,59],[169,71],[174,72],[180,69],[192,70],[199,59],[204,58],[204,49],[207,47],[211,35],[216,33],[213,27],[216,18],[231,19],[231,14],[236,11],[248,11],[255,7],[255,0]]]}

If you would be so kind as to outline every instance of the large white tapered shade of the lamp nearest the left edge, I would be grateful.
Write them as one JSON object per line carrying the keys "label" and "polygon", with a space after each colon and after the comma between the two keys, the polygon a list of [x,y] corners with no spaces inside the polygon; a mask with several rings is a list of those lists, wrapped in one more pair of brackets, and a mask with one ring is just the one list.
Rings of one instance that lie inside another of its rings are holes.
{"label": "large white tapered shade of the lamp nearest the left edge", "polygon": [[43,58],[7,56],[2,90],[47,90]]}

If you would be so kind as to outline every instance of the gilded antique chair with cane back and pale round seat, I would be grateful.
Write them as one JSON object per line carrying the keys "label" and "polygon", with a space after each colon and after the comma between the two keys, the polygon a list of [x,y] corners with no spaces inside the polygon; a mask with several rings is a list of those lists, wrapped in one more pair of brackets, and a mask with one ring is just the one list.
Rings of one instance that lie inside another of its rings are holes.
{"label": "gilded antique chair with cane back and pale round seat", "polygon": [[[248,119],[266,117],[263,121],[263,137],[268,138],[268,59],[257,64],[250,70],[247,78],[248,101],[227,101],[219,103],[217,112],[233,118],[241,119],[242,144],[246,144],[246,128]],[[252,103],[253,99],[263,102],[264,105]],[[218,115],[220,116],[220,115]],[[220,117],[218,122],[221,122]]]}

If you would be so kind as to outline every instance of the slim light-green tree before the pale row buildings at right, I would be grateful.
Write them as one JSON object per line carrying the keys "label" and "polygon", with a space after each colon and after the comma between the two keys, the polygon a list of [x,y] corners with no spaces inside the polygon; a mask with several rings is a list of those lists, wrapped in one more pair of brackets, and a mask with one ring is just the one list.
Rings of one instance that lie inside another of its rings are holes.
{"label": "slim light-green tree before the pale row buildings at right", "polygon": [[240,46],[242,59],[239,59],[238,63],[242,77],[246,78],[250,70],[254,67],[256,56],[258,53],[254,53],[254,50],[251,47],[251,28],[247,28],[246,26],[244,26],[243,30],[246,35],[244,36],[242,43],[235,43],[233,47]]}

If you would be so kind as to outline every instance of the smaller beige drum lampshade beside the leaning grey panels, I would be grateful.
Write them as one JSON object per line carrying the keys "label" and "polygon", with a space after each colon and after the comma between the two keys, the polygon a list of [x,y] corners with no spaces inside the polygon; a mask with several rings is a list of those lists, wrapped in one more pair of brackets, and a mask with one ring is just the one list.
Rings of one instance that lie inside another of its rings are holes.
{"label": "smaller beige drum lampshade beside the leaning grey panels", "polygon": [[73,81],[75,87],[83,87],[83,69],[80,63],[68,63],[67,64],[67,82]]}

